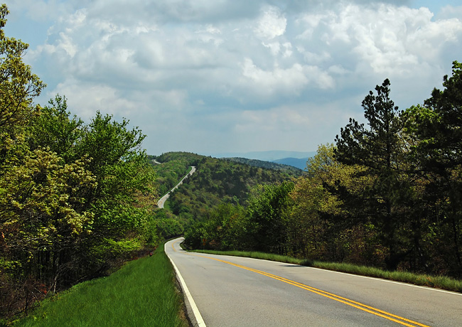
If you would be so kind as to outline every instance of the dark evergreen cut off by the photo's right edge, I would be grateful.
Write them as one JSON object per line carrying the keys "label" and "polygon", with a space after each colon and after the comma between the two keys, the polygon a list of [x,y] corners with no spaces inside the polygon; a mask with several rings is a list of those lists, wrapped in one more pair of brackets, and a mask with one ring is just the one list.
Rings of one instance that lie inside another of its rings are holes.
{"label": "dark evergreen cut off by the photo's right edge", "polygon": [[431,220],[438,228],[435,242],[450,274],[462,275],[462,63],[453,62],[444,90],[434,89],[423,106],[407,110],[409,134],[414,136],[416,171],[425,175]]}

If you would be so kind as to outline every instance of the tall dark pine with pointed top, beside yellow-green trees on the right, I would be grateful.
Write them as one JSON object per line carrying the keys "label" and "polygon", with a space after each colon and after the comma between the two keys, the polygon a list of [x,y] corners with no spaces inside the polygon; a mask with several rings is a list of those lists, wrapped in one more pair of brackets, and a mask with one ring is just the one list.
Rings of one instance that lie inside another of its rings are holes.
{"label": "tall dark pine with pointed top, beside yellow-green trees on the right", "polygon": [[[395,269],[404,257],[397,232],[399,225],[404,223],[400,204],[409,191],[406,178],[402,176],[402,120],[398,107],[390,99],[390,80],[377,85],[375,90],[377,95],[370,91],[362,101],[368,128],[350,119],[335,138],[335,158],[343,164],[364,166],[365,170],[360,173],[373,179],[372,186],[359,195],[364,206],[361,215],[382,230],[382,242],[388,249],[387,268]],[[351,196],[342,194],[344,198]],[[352,203],[351,198],[345,203]],[[350,213],[354,213],[355,208],[351,209]]]}

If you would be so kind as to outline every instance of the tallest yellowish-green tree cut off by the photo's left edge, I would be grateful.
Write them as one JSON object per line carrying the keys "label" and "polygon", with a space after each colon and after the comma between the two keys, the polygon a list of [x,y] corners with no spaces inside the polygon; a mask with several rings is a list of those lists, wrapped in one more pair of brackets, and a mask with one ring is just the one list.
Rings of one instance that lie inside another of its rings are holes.
{"label": "tallest yellowish-green tree cut off by the photo's left edge", "polygon": [[[23,199],[11,198],[15,192],[33,191],[33,187],[21,190],[15,178],[24,178],[23,163],[31,163],[36,158],[28,150],[24,129],[33,117],[37,107],[33,107],[33,98],[40,95],[45,85],[31,73],[30,66],[23,63],[23,55],[28,45],[21,40],[8,38],[4,33],[6,16],[9,11],[5,4],[0,6],[0,318],[30,303],[30,292],[23,279],[21,264],[27,262],[28,253],[33,252],[33,240],[21,240],[21,230],[16,232],[16,225],[24,222],[21,216]],[[44,155],[45,156],[45,155]],[[37,154],[41,157],[41,154]],[[39,161],[47,161],[42,158]],[[30,167],[30,165],[29,165]],[[7,200],[7,199],[10,199]],[[22,202],[22,203],[21,203]],[[35,215],[36,217],[36,215]],[[18,242],[19,241],[19,242]],[[26,249],[21,242],[27,243]],[[25,258],[26,257],[26,258]],[[26,299],[22,294],[27,294]],[[22,298],[21,298],[22,296]],[[21,301],[18,299],[21,298]],[[12,300],[10,300],[12,299]],[[27,306],[26,306],[27,308]]]}

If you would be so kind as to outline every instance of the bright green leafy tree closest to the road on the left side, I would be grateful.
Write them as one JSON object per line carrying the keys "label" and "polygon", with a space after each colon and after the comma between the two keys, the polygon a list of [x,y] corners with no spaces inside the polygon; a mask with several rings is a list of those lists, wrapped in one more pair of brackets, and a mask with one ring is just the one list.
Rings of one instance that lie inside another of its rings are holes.
{"label": "bright green leafy tree closest to the road on the left side", "polygon": [[86,194],[86,210],[94,215],[91,235],[78,248],[82,259],[79,274],[97,274],[130,256],[157,233],[151,221],[156,202],[156,175],[141,151],[144,135],[129,122],[116,122],[97,112],[82,128],[75,145],[76,156],[86,156],[87,170],[97,186]]}

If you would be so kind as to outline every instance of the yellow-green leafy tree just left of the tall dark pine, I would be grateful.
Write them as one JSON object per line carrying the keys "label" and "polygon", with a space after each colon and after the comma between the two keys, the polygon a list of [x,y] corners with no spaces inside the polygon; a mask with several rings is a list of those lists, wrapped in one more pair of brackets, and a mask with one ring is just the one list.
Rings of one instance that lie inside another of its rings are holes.
{"label": "yellow-green leafy tree just left of the tall dark pine", "polygon": [[[318,146],[316,156],[306,163],[308,174],[296,179],[291,192],[295,205],[290,235],[296,256],[338,261],[351,259],[352,251],[345,249],[351,249],[353,242],[362,242],[365,250],[370,248],[364,239],[343,237],[350,230],[363,229],[363,223],[348,219],[349,212],[340,195],[331,192],[343,188],[358,194],[369,187],[370,181],[367,176],[356,176],[364,168],[340,164],[333,152],[333,144]],[[355,260],[367,257],[365,252],[356,254]],[[370,256],[367,259],[372,261]]]}

